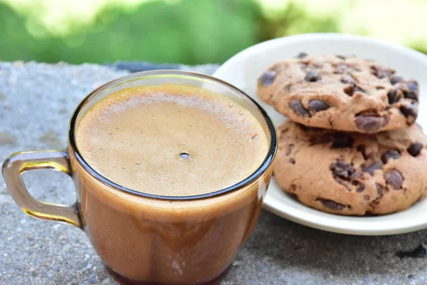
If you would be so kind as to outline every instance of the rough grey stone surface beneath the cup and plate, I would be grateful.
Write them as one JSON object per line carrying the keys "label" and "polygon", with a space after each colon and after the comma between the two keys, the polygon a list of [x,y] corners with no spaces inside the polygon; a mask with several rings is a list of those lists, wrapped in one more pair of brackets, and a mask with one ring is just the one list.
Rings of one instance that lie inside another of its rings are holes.
{"label": "rough grey stone surface beneath the cup and plate", "polygon": [[[89,64],[0,63],[0,162],[19,150],[64,147],[68,119],[78,102],[125,73]],[[73,182],[59,172],[32,171],[24,180],[38,199],[75,199]],[[23,214],[2,177],[0,221],[0,284],[115,284],[80,229]],[[263,211],[223,284],[427,284],[427,259],[396,257],[425,242],[426,230],[347,236]]]}

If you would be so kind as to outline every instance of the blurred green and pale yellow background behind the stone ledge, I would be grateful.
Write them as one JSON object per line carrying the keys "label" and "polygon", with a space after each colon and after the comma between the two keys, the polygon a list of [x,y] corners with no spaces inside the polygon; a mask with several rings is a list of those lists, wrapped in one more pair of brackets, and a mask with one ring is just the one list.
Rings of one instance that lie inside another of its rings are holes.
{"label": "blurred green and pale yellow background behind the stone ledge", "polygon": [[223,63],[295,33],[427,51],[426,0],[0,0],[0,61]]}

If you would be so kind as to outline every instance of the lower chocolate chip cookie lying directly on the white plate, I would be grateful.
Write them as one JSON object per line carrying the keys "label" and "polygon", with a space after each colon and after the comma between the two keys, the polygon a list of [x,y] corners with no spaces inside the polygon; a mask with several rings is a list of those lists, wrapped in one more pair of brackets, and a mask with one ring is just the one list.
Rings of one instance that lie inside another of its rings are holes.
{"label": "lower chocolate chip cookie lying directly on the white plate", "polygon": [[388,214],[423,199],[427,137],[418,125],[374,135],[278,128],[275,180],[303,204],[344,215]]}

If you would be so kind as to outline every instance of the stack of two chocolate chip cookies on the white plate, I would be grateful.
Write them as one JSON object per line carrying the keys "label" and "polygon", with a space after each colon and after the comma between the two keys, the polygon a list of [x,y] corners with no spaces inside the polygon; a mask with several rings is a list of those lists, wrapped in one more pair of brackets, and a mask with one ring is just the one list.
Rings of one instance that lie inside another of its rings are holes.
{"label": "stack of two chocolate chip cookies on the white plate", "polygon": [[388,214],[423,198],[427,138],[414,124],[418,83],[354,56],[275,63],[258,96],[287,120],[273,163],[280,187],[334,214]]}

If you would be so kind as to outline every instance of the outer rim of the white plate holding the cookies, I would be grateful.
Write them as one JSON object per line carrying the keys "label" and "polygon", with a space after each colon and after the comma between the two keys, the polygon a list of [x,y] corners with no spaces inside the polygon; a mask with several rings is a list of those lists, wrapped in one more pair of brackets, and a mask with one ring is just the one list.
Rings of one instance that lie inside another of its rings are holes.
{"label": "outer rim of the white plate holding the cookies", "polygon": [[[413,58],[416,58],[417,61],[421,61],[423,65],[427,67],[427,56],[419,51],[415,51],[411,48],[407,48],[406,46],[399,46],[394,43],[388,43],[386,41],[381,41],[375,38],[369,38],[367,36],[359,36],[359,35],[352,35],[347,33],[305,33],[305,34],[298,34],[298,35],[292,35],[292,36],[284,36],[281,38],[274,38],[269,41],[263,41],[262,43],[257,43],[254,46],[250,46],[246,49],[243,49],[243,51],[240,51],[236,53],[236,55],[229,58],[225,63],[223,63],[213,74],[216,78],[221,78],[224,81],[227,81],[226,78],[221,77],[224,73],[224,70],[230,69],[230,66],[233,66],[233,64],[236,61],[240,61],[242,58],[251,56],[253,53],[260,53],[262,51],[268,50],[268,48],[271,48],[272,46],[283,46],[287,43],[297,43],[301,41],[325,41],[325,40],[336,40],[339,41],[354,41],[354,42],[363,42],[367,44],[374,44],[377,46],[380,46],[381,48],[387,48],[391,49],[396,53],[404,53],[406,56],[411,56]],[[231,83],[233,85],[233,83]],[[245,92],[245,91],[243,91]],[[312,222],[308,219],[305,219],[304,217],[298,217],[297,213],[292,213],[292,211],[286,211],[283,208],[278,207],[276,203],[280,202],[269,202],[270,199],[274,199],[273,197],[268,195],[269,192],[267,192],[267,196],[264,199],[263,207],[264,209],[267,209],[269,212],[272,212],[273,214],[276,214],[280,217],[283,217],[285,219],[288,219],[292,222],[296,222],[298,224],[305,225],[307,227],[312,227],[315,229],[321,229],[325,230],[327,232],[335,232],[339,234],[352,234],[352,235],[362,235],[362,236],[378,236],[378,235],[391,235],[391,234],[405,234],[408,232],[415,232],[421,229],[427,228],[427,219],[424,222],[418,222],[416,224],[406,224],[401,225],[397,227],[388,227],[388,228],[382,228],[382,229],[371,229],[367,227],[336,227],[332,225],[330,222],[322,222],[315,221]],[[284,194],[284,193],[283,193]],[[309,208],[310,210],[313,210]],[[315,210],[315,209],[314,209]],[[319,211],[320,212],[320,211]],[[324,212],[321,212],[324,214]],[[330,213],[325,213],[330,214]],[[355,216],[341,216],[341,215],[335,215],[330,214],[333,216],[338,216],[342,219],[342,217],[347,217],[349,219],[355,218],[355,219],[369,219],[369,217],[355,217]],[[385,216],[376,216],[376,217],[385,217]]]}

